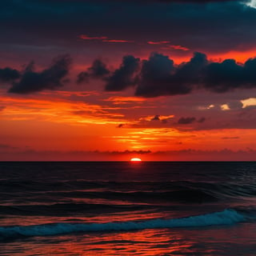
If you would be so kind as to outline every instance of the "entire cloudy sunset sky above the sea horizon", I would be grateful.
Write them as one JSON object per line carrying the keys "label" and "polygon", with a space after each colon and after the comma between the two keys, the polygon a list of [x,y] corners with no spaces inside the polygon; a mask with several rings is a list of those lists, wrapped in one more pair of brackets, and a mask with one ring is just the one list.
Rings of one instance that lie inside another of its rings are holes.
{"label": "entire cloudy sunset sky above the sea horizon", "polygon": [[1,161],[256,157],[256,1],[2,0]]}

